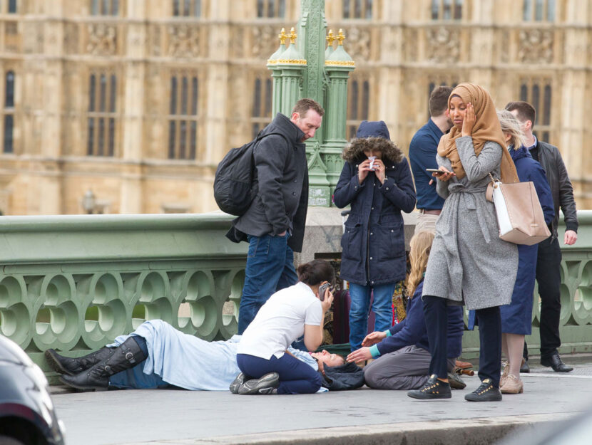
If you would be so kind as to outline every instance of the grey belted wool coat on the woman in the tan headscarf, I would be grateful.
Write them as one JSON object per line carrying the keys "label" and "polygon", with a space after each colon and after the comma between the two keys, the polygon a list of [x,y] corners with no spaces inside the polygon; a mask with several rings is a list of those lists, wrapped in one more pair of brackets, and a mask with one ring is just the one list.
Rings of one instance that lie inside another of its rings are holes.
{"label": "grey belted wool coat on the woman in the tan headscarf", "polygon": [[[489,173],[499,177],[501,147],[486,142],[475,155],[470,136],[456,139],[466,176],[437,181],[446,199],[436,223],[422,295],[464,302],[467,309],[509,304],[518,270],[518,248],[499,238],[494,204],[486,201]],[[439,166],[452,170],[448,158]]]}

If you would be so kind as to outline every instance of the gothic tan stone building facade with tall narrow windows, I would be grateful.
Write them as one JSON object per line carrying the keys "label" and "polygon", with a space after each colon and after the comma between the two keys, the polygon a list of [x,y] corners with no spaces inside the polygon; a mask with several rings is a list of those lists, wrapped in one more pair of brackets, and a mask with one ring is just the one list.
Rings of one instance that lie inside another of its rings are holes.
{"label": "gothic tan stone building facade with tall narrow windows", "polygon": [[[215,210],[216,164],[270,121],[265,62],[299,16],[298,0],[1,0],[0,211]],[[347,137],[382,119],[407,150],[434,85],[479,83],[499,108],[536,105],[592,204],[592,0],[327,0],[326,19],[357,66]]]}

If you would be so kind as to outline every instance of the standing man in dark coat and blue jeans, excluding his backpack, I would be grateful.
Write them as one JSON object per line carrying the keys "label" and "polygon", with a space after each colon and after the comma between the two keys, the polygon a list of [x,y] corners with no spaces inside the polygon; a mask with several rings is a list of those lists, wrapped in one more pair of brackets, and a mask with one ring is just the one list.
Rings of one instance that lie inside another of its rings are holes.
{"label": "standing man in dark coat and blue jeans, excluding his backpack", "polygon": [[299,100],[292,117],[277,113],[253,150],[258,192],[249,209],[233,221],[228,236],[248,241],[245,285],[238,311],[242,334],[259,308],[277,290],[297,283],[294,252],[302,250],[308,206],[305,140],[315,135],[325,110],[312,99]]}

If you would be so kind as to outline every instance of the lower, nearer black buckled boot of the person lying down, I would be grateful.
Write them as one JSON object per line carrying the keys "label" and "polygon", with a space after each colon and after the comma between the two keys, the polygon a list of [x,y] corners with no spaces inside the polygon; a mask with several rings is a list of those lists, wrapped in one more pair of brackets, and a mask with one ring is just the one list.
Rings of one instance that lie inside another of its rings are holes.
{"label": "lower, nearer black buckled boot of the person lying down", "polygon": [[141,350],[138,342],[130,337],[118,347],[114,347],[113,354],[106,359],[73,377],[63,375],[60,377],[60,382],[81,390],[105,390],[109,387],[111,375],[128,370],[144,359],[146,354]]}

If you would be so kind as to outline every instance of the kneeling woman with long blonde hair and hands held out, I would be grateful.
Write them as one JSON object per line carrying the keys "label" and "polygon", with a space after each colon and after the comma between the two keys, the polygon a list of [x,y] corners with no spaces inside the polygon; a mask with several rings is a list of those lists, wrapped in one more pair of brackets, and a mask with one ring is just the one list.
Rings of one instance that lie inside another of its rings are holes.
{"label": "kneeling woman with long blonde hair and hands held out", "polygon": [[[411,239],[409,259],[411,273],[408,286],[412,296],[407,302],[407,316],[389,330],[368,334],[362,348],[347,356],[348,362],[374,358],[364,367],[368,387],[374,389],[417,389],[429,378],[429,353],[427,328],[422,306],[422,290],[427,260],[434,234],[419,231]],[[456,357],[462,350],[462,307],[449,306],[448,312],[448,371],[456,365]],[[464,382],[454,380],[455,387],[464,388]]]}

